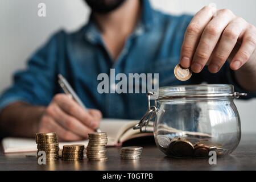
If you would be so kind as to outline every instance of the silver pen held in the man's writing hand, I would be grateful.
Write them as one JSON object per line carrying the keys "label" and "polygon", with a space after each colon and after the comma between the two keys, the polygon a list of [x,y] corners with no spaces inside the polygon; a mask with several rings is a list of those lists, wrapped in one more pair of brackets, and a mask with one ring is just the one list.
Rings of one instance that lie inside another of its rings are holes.
{"label": "silver pen held in the man's writing hand", "polygon": [[[75,100],[80,106],[82,106],[85,111],[88,111],[85,105],[80,100],[80,98],[75,93],[75,91],[72,89],[71,85],[69,85],[68,81],[61,74],[59,74],[58,77],[59,77],[58,82],[60,84],[60,87],[63,89],[64,93],[71,94],[71,96],[73,97],[73,100]],[[101,133],[100,128],[97,128],[96,132]]]}

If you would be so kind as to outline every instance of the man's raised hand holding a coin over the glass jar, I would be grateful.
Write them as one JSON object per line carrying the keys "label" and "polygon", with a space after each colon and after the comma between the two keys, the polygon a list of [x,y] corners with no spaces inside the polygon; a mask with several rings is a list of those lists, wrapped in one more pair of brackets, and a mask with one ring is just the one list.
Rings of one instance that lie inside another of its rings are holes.
{"label": "man's raised hand holding a coin over the glass jar", "polygon": [[255,45],[256,28],[253,25],[230,10],[205,6],[187,28],[180,64],[184,68],[191,67],[195,73],[208,64],[209,71],[217,73],[228,59],[230,68],[237,71],[254,57],[255,63],[250,64],[256,67],[256,56],[252,56],[255,55]]}

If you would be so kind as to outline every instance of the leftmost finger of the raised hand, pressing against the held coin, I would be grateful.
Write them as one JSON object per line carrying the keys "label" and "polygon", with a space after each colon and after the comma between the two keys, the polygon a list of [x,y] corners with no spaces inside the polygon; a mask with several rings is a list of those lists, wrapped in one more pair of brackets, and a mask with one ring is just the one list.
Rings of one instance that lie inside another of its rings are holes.
{"label": "leftmost finger of the raised hand, pressing against the held coin", "polygon": [[215,12],[215,8],[205,6],[191,20],[191,23],[185,32],[183,45],[181,47],[180,64],[182,67],[189,68],[191,66],[191,60],[196,51],[196,47],[199,43],[201,34],[203,33],[204,28],[212,19]]}

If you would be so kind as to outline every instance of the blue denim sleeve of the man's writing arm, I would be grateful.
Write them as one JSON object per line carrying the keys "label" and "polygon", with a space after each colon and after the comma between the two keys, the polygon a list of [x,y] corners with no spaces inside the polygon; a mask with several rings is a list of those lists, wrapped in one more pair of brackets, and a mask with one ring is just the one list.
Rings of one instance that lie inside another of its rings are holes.
{"label": "blue denim sleeve of the man's writing arm", "polygon": [[61,32],[28,60],[27,68],[14,74],[13,85],[0,97],[0,111],[16,101],[32,105],[48,105],[56,88],[57,49]]}

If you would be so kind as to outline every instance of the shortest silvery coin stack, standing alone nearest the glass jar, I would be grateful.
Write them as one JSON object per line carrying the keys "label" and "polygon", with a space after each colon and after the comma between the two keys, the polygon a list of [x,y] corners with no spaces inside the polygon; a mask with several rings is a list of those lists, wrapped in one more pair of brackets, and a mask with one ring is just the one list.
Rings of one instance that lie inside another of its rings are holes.
{"label": "shortest silvery coin stack, standing alone nearest the glass jar", "polygon": [[143,147],[122,147],[121,159],[134,160],[141,159]]}

